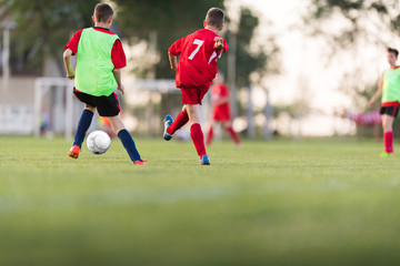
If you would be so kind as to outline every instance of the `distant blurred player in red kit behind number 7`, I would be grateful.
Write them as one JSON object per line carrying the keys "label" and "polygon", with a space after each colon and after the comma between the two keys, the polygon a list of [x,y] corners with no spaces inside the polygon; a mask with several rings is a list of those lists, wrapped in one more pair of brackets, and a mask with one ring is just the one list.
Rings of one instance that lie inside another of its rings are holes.
{"label": "distant blurred player in red kit behind number 7", "polygon": [[210,127],[207,133],[207,145],[210,145],[213,136],[213,126],[217,122],[221,123],[228,131],[237,146],[240,145],[239,137],[232,129],[231,113],[229,106],[229,90],[223,83],[223,75],[218,73],[214,83],[211,86],[212,114],[210,117]]}

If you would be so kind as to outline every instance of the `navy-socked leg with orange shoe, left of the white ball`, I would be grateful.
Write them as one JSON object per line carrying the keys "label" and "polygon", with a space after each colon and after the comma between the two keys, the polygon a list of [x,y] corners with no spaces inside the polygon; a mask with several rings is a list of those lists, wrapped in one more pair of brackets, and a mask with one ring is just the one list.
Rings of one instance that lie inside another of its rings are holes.
{"label": "navy-socked leg with orange shoe, left of the white ball", "polygon": [[94,113],[96,108],[90,106],[90,105],[86,105],[81,117],[78,122],[78,130],[77,133],[74,135],[74,140],[73,140],[73,144],[71,150],[68,153],[68,156],[73,157],[73,158],[78,158],[79,156],[79,151],[82,147],[82,143],[84,140],[84,135],[91,124],[92,117],[93,117],[93,113]]}

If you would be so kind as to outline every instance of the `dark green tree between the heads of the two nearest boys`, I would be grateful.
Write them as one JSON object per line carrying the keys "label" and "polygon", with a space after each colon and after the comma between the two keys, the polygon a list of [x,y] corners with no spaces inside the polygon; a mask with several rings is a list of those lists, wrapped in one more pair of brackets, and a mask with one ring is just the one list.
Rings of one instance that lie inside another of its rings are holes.
{"label": "dark green tree between the heads of the two nearest boys", "polygon": [[126,37],[134,43],[149,40],[157,33],[157,78],[172,78],[168,61],[168,48],[173,41],[203,27],[207,11],[211,7],[224,9],[223,0],[114,0],[118,24]]}

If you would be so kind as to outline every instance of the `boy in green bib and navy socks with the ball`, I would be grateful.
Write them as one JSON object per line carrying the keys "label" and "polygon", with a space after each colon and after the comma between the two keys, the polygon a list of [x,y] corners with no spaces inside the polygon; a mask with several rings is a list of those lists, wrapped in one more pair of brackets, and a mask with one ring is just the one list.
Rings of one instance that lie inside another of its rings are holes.
{"label": "boy in green bib and navy socks with the ball", "polygon": [[[144,162],[136,149],[133,139],[119,116],[120,106],[113,92],[117,88],[123,94],[120,69],[127,65],[127,59],[119,37],[109,30],[112,19],[113,10],[109,4],[97,4],[92,17],[94,27],[77,31],[66,45],[63,61],[67,78],[74,79],[73,93],[86,103],[68,156],[78,158],[97,109],[100,116],[108,117],[132,162],[142,165]],[[71,66],[71,55],[77,55],[76,72]]]}

